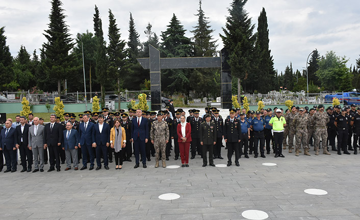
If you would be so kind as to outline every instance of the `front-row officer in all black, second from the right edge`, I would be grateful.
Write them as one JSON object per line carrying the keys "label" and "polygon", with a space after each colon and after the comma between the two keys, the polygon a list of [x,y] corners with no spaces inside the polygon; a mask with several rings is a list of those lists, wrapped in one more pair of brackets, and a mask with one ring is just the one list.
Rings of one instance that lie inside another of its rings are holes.
{"label": "front-row officer in all black, second from the right edge", "polygon": [[350,154],[347,151],[347,137],[348,137],[348,116],[346,116],[346,108],[341,109],[341,114],[335,119],[335,126],[338,128],[338,154],[341,155],[341,150],[344,154]]}

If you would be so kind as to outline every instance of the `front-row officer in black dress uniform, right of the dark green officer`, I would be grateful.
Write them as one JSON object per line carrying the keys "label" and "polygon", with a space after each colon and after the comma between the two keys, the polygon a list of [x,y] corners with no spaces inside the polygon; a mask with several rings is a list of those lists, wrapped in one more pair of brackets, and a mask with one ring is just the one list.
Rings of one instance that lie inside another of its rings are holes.
{"label": "front-row officer in black dress uniform, right of the dark green officer", "polygon": [[235,165],[240,166],[239,158],[239,142],[241,135],[241,128],[239,119],[235,118],[235,109],[229,109],[229,117],[224,121],[224,139],[227,146],[227,165],[232,165],[232,157],[235,151]]}

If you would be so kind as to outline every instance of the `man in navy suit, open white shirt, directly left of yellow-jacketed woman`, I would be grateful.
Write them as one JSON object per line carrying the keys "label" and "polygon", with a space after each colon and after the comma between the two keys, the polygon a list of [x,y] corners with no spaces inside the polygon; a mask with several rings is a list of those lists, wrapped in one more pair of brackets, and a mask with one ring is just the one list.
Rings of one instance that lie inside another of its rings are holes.
{"label": "man in navy suit, open white shirt, directly left of yellow-jacketed woman", "polygon": [[104,167],[109,169],[108,148],[110,146],[110,126],[105,123],[104,115],[100,114],[98,123],[94,126],[96,147],[96,170],[101,169],[101,154],[104,157]]}

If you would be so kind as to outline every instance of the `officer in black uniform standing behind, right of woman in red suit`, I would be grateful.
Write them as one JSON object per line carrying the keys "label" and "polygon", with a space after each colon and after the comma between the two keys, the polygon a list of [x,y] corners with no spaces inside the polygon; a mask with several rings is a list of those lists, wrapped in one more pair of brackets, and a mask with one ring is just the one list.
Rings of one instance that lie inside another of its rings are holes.
{"label": "officer in black uniform standing behind, right of woman in red suit", "polygon": [[[200,145],[200,136],[199,136],[199,130],[200,125],[204,121],[201,117],[199,117],[200,110],[193,109],[194,116],[190,119],[190,125],[191,125],[191,158],[194,159],[196,152],[198,155],[201,155],[201,145]],[[202,158],[202,156],[201,156]]]}

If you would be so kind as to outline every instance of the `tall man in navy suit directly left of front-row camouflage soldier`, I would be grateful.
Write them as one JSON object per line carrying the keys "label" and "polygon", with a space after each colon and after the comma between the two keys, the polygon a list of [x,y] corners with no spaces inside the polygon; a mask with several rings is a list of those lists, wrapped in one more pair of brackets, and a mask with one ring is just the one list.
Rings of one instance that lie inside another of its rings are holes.
{"label": "tall man in navy suit directly left of front-row camouflage soldier", "polygon": [[135,166],[139,167],[139,152],[141,153],[141,160],[143,167],[146,168],[146,152],[145,143],[149,139],[149,126],[148,121],[145,117],[141,117],[142,110],[136,110],[136,117],[133,118],[131,133],[132,142],[134,143],[134,154],[135,154]]}

